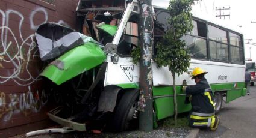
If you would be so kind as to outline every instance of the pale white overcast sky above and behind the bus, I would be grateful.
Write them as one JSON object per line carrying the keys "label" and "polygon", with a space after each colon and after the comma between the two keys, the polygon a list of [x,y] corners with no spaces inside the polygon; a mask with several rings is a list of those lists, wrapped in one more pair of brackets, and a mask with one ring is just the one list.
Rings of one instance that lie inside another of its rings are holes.
{"label": "pale white overcast sky above and behind the bus", "polygon": [[[160,7],[167,7],[169,0],[152,0],[152,5]],[[244,35],[245,58],[256,62],[256,46],[246,43],[255,43],[256,45],[256,1],[255,0],[201,0],[195,2],[192,7],[193,14],[199,14],[211,19],[218,20],[219,24],[226,24],[232,26],[232,29],[241,32]],[[223,10],[222,14],[230,14],[225,19],[215,17],[219,15],[217,8],[229,8],[230,10]],[[251,47],[251,50],[250,50]],[[250,54],[251,51],[251,54]]]}

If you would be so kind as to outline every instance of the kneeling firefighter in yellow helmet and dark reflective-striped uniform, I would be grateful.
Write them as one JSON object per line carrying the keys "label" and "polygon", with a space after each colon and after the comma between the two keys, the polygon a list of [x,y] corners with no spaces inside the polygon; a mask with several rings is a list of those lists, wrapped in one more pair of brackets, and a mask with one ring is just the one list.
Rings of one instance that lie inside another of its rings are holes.
{"label": "kneeling firefighter in yellow helmet and dark reflective-striped uniform", "polygon": [[204,77],[205,74],[207,72],[202,68],[195,68],[192,71],[192,79],[195,79],[196,85],[183,86],[183,91],[187,95],[192,95],[192,110],[189,115],[190,127],[210,128],[211,131],[215,131],[220,119],[215,115],[213,92]]}

